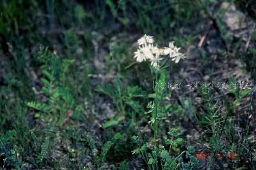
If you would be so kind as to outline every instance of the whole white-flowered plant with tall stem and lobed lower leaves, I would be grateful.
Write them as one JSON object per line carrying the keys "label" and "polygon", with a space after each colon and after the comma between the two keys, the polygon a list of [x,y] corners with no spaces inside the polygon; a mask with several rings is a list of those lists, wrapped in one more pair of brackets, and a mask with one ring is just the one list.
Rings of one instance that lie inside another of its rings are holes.
{"label": "whole white-flowered plant with tall stem and lobed lower leaves", "polygon": [[[176,169],[180,166],[177,163],[178,158],[180,158],[186,151],[180,153],[178,157],[170,157],[170,150],[172,146],[178,147],[180,143],[182,143],[182,139],[170,139],[166,135],[163,136],[163,141],[165,143],[159,143],[159,138],[161,138],[161,134],[159,134],[160,130],[159,121],[162,120],[165,109],[162,104],[164,95],[163,84],[166,81],[166,71],[164,68],[168,66],[167,61],[171,60],[174,63],[179,63],[180,59],[184,59],[185,56],[180,52],[180,48],[174,45],[174,42],[169,42],[168,47],[157,47],[154,45],[153,36],[144,35],[138,40],[138,49],[134,52],[134,58],[136,62],[141,63],[146,61],[150,63],[150,69],[152,73],[154,73],[154,81],[156,82],[156,86],[154,87],[154,94],[150,94],[149,96],[154,98],[154,102],[148,103],[150,113],[150,120],[148,124],[152,127],[154,131],[154,144],[153,148],[149,148],[152,150],[151,152],[147,151],[148,145],[143,144],[142,146],[139,144],[138,137],[132,137],[132,142],[138,144],[138,148],[132,151],[132,154],[141,153],[145,162],[147,163],[148,169],[158,169],[158,161],[161,161],[162,169]],[[159,73],[161,76],[158,77]],[[175,128],[172,128],[172,130]],[[136,140],[135,140],[136,139]],[[161,141],[161,140],[160,140]],[[169,149],[166,147],[169,146]]]}

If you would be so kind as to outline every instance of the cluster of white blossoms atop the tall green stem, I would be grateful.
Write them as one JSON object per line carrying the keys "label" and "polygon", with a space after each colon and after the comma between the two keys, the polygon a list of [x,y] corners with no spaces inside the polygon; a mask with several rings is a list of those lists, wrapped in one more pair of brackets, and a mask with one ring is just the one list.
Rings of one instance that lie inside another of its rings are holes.
{"label": "cluster of white blossoms atop the tall green stem", "polygon": [[173,42],[170,42],[169,47],[164,47],[164,49],[154,46],[153,43],[153,36],[144,35],[138,40],[139,48],[134,52],[136,61],[141,63],[142,61],[148,60],[154,68],[158,68],[159,61],[163,59],[161,57],[163,55],[169,55],[175,63],[185,58],[184,54],[179,52],[180,48],[176,47]]}

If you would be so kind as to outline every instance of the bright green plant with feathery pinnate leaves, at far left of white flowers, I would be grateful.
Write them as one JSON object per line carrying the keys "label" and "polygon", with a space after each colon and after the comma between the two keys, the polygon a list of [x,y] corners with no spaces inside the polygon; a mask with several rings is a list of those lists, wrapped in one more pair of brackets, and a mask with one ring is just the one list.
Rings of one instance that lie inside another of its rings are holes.
{"label": "bright green plant with feathery pinnate leaves, at far left of white flowers", "polygon": [[62,125],[70,114],[73,115],[72,118],[77,118],[83,108],[81,105],[75,104],[68,89],[63,87],[65,86],[65,73],[72,61],[66,59],[61,61],[47,48],[40,50],[38,58],[40,61],[44,61],[42,69],[45,78],[42,78],[41,82],[44,84],[42,91],[47,96],[47,100],[45,102],[28,102],[28,107],[40,111],[35,114],[36,118],[58,122],[59,125]]}

